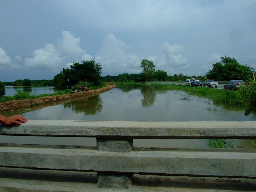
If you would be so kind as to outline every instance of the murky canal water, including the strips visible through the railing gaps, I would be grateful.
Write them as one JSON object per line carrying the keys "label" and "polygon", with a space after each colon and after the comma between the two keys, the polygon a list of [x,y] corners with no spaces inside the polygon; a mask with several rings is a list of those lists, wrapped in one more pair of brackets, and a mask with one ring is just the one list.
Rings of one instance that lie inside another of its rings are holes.
{"label": "murky canal water, including the strips visible through the railing gaps", "polygon": [[[24,113],[29,119],[90,121],[256,121],[243,108],[216,105],[184,91],[124,85]],[[22,126],[22,125],[21,125]],[[235,148],[256,148],[256,140],[228,140]],[[95,138],[0,136],[0,143],[96,145]],[[208,148],[208,139],[133,139],[136,147]]]}

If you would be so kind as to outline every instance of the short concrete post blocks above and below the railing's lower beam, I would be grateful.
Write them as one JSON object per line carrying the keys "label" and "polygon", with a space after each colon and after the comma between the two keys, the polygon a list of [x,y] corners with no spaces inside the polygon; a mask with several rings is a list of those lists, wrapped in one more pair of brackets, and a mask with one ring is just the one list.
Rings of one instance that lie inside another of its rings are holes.
{"label": "short concrete post blocks above and below the railing's lower beam", "polygon": [[[132,139],[104,139],[97,138],[97,150],[110,152],[130,152],[132,150]],[[109,161],[109,167],[115,166]],[[129,189],[132,185],[133,174],[97,172],[98,187],[116,189]]]}

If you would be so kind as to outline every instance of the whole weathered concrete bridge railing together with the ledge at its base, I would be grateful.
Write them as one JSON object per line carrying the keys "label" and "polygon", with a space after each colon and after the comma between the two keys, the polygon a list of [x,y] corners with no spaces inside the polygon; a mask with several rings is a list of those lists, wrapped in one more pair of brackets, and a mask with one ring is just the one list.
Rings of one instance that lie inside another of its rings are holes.
{"label": "whole weathered concrete bridge railing together with the ledge at its base", "polygon": [[[63,181],[62,178],[67,177],[65,172],[69,174],[70,171],[75,171],[76,174],[84,174],[85,171],[97,172],[100,175],[97,180],[103,179],[101,182],[103,185],[98,183],[99,186],[123,187],[125,185],[128,186],[125,188],[130,188],[127,191],[255,191],[256,149],[133,147],[130,150],[133,138],[255,138],[255,133],[255,122],[29,120],[21,126],[0,125],[0,135],[72,136],[98,139],[98,150],[96,147],[86,146],[0,145],[0,167],[2,167],[0,168],[0,177],[2,177],[0,191],[115,190],[98,188],[97,182],[92,184],[84,177],[82,182],[76,176],[74,176],[77,178],[75,181],[72,179],[70,182]],[[17,177],[20,174],[18,172],[8,175],[8,171],[3,171],[7,168],[3,167],[23,168],[18,171],[22,172],[23,177]],[[30,168],[51,169],[51,171],[36,170],[35,173],[41,174],[35,176],[33,172],[33,177],[28,177],[30,175],[28,171],[34,171]],[[131,174],[168,176],[134,177],[131,186],[129,183],[131,179],[127,180]],[[125,178],[122,180],[123,176]],[[209,176],[217,178],[209,178]],[[229,179],[218,179],[218,177],[229,177]],[[110,183],[113,180],[116,181]],[[116,189],[116,191],[126,190]]]}

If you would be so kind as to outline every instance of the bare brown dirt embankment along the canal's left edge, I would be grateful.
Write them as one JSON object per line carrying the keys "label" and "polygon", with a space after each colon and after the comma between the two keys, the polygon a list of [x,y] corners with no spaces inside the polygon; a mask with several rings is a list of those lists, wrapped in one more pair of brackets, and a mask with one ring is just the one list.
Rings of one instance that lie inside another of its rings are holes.
{"label": "bare brown dirt embankment along the canal's left edge", "polygon": [[113,88],[115,88],[115,84],[107,84],[107,87],[102,87],[95,90],[89,90],[89,91],[80,91],[76,93],[69,93],[69,94],[63,94],[63,95],[54,95],[54,96],[46,96],[41,97],[37,99],[24,99],[24,100],[14,100],[14,101],[8,101],[5,103],[0,103],[0,112],[8,112],[12,110],[19,110],[22,108],[42,108],[40,106],[43,105],[51,105],[51,103],[59,103],[64,102],[66,100],[70,100],[73,98],[78,97],[86,97],[91,96],[99,93],[103,93],[105,91],[109,91]]}

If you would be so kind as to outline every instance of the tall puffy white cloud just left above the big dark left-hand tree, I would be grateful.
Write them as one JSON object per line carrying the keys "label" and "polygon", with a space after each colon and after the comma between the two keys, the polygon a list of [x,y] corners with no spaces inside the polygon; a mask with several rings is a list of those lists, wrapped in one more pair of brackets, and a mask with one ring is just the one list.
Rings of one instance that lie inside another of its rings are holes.
{"label": "tall puffy white cloud just left above the big dark left-hand tree", "polygon": [[53,44],[34,50],[34,58],[26,58],[25,65],[31,68],[56,69],[60,67],[62,58]]}

